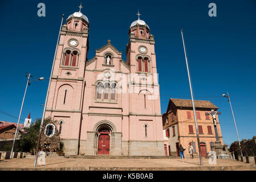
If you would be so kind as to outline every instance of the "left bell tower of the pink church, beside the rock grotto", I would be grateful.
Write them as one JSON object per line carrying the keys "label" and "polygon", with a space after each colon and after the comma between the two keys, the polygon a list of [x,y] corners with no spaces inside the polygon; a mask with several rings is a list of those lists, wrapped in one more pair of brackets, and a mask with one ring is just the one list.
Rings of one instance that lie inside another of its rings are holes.
{"label": "left bell tower of the pink church, beside the rock grotto", "polygon": [[89,20],[79,11],[66,19],[60,31],[54,71],[46,106],[46,117],[59,121],[56,129],[68,155],[79,151],[82,119],[84,71],[89,49]]}

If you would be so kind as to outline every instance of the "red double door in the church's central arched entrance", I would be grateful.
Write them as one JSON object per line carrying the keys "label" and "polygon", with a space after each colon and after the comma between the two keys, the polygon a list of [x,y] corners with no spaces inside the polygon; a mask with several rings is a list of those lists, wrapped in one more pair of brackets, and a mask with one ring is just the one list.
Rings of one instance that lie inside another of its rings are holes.
{"label": "red double door in the church's central arched entrance", "polygon": [[97,155],[109,155],[110,131],[107,127],[99,129]]}

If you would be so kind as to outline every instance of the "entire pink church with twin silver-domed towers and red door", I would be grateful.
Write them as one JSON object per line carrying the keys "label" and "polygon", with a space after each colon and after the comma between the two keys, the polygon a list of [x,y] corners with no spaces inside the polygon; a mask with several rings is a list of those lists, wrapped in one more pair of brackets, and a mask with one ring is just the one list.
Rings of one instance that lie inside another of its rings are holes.
{"label": "entire pink church with twin silver-domed towers and red door", "polygon": [[60,31],[46,106],[46,117],[58,120],[65,154],[165,155],[149,26],[132,22],[127,61],[110,40],[88,60],[89,21],[80,10]]}

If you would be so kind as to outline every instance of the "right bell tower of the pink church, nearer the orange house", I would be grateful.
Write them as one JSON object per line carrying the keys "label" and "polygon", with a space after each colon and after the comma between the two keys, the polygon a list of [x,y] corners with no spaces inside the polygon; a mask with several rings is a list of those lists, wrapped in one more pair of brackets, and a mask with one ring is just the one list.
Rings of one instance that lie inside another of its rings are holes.
{"label": "right bell tower of the pink church, nearer the orange house", "polygon": [[[129,155],[164,155],[155,39],[144,20],[129,27]],[[136,142],[134,142],[136,141]],[[147,151],[143,146],[147,146]]]}

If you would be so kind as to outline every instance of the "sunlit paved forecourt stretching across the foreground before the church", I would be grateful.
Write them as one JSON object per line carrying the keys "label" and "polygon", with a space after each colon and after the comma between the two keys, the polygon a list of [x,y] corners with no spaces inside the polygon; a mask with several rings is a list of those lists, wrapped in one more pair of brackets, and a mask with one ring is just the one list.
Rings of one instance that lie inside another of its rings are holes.
{"label": "sunlit paved forecourt stretching across the foreground before the church", "polygon": [[34,159],[8,159],[0,161],[2,170],[256,170],[251,164],[237,160],[217,159],[210,165],[203,159],[66,159],[47,158],[46,165],[34,168]]}

